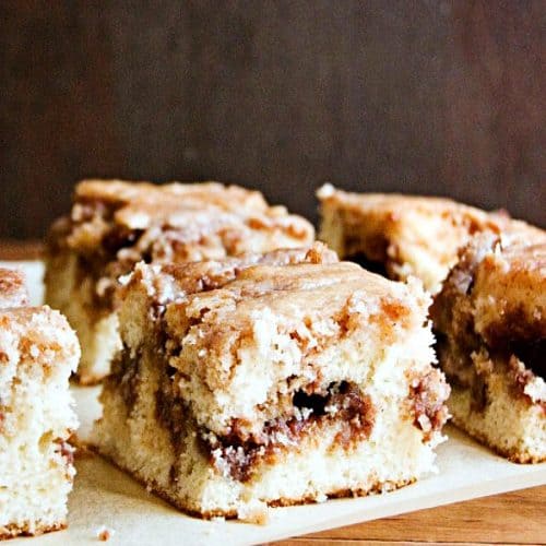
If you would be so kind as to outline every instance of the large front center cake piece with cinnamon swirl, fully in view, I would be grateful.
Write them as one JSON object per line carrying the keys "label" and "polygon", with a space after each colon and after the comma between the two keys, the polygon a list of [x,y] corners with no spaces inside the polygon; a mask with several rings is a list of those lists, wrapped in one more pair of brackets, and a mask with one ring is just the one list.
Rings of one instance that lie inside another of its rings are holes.
{"label": "large front center cake piece with cinnamon swirl, fully in view", "polygon": [[449,388],[417,283],[318,246],[123,283],[92,442],[175,507],[256,521],[435,470]]}

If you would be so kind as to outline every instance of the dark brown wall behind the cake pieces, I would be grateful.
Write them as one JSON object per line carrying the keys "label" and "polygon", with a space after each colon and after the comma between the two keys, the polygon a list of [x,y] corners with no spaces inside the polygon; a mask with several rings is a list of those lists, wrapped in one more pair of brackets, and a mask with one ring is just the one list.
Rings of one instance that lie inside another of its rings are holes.
{"label": "dark brown wall behind the cake pieces", "polygon": [[[93,4],[93,5],[92,5]],[[86,176],[324,180],[546,224],[544,0],[0,3],[0,237]]]}

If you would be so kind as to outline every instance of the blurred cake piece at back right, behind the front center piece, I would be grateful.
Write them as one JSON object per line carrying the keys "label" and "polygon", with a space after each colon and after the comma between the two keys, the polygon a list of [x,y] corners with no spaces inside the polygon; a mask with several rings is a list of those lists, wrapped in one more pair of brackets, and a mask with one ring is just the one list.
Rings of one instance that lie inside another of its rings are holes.
{"label": "blurred cake piece at back right, behind the front center piece", "polygon": [[391,278],[420,278],[426,289],[437,293],[458,250],[477,233],[507,229],[539,236],[539,229],[509,218],[506,213],[487,213],[449,199],[396,193],[349,193],[323,186],[321,230],[325,241],[343,259]]}

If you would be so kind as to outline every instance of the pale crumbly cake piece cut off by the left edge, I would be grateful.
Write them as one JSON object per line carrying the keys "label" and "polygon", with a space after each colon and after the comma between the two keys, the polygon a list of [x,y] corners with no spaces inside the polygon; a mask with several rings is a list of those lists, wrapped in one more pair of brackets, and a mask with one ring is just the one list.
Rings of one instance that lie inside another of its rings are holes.
{"label": "pale crumbly cake piece cut off by the left edge", "polygon": [[0,538],[67,525],[79,356],[67,320],[28,307],[22,276],[0,270]]}

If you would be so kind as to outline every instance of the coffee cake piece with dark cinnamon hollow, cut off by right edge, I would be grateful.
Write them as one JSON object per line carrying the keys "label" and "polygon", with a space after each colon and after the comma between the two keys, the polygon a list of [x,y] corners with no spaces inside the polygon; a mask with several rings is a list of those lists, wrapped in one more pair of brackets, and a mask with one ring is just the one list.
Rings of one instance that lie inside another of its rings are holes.
{"label": "coffee cake piece with dark cinnamon hollow, cut off by right edge", "polygon": [[512,461],[546,460],[546,236],[476,237],[431,317],[454,423]]}

